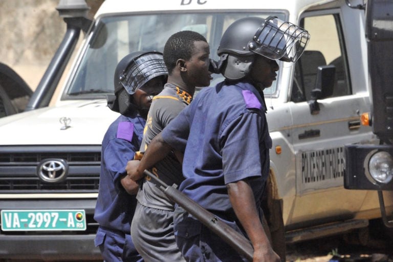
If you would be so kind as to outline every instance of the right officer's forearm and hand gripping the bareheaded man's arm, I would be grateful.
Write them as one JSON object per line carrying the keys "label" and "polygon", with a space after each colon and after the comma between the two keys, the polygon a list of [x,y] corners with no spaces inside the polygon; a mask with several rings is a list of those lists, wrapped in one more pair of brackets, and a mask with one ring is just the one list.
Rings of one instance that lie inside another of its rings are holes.
{"label": "right officer's forearm and hand gripping the bareheaded man's arm", "polygon": [[145,169],[153,167],[157,162],[164,159],[170,150],[172,150],[172,148],[164,141],[161,133],[159,133],[153,140],[151,140],[140,161],[128,161],[125,168],[127,176],[137,182],[144,176],[143,171]]}

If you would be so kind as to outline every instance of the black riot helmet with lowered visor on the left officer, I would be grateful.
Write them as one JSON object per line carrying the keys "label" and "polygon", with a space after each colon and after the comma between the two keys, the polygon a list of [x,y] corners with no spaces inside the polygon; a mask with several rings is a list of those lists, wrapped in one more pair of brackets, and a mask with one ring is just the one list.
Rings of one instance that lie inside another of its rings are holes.
{"label": "black riot helmet with lowered visor on the left officer", "polygon": [[115,69],[115,95],[107,96],[108,107],[124,115],[135,111],[132,95],[158,76],[168,76],[162,53],[138,51],[124,56]]}

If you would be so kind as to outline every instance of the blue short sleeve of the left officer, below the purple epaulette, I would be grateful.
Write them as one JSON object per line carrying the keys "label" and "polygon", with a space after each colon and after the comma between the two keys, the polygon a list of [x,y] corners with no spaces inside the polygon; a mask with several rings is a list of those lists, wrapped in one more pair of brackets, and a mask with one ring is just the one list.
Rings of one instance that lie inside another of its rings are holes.
{"label": "blue short sleeve of the left officer, below the purple epaulette", "polygon": [[122,189],[120,178],[127,173],[125,166],[128,160],[134,159],[136,150],[133,143],[121,138],[110,140],[103,150],[103,162],[108,171],[114,174],[112,179],[116,187]]}

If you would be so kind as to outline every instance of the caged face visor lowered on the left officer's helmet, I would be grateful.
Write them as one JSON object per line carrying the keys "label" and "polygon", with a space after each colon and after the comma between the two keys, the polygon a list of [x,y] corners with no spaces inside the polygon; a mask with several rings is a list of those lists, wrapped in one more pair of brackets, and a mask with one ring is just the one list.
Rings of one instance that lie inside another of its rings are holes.
{"label": "caged face visor lowered on the left officer's helmet", "polygon": [[129,63],[120,74],[119,80],[129,94],[134,94],[149,80],[162,75],[168,75],[162,54],[150,52],[134,58],[133,63]]}

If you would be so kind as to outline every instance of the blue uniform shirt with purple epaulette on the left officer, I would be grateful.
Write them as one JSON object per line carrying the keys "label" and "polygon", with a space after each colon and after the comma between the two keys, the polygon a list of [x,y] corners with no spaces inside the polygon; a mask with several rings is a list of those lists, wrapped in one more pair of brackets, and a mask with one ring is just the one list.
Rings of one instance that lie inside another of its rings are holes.
{"label": "blue uniform shirt with purple epaulette on the left officer", "polygon": [[100,185],[94,219],[102,227],[130,233],[136,196],[129,195],[120,183],[127,173],[129,159],[134,159],[143,137],[145,119],[120,115],[102,140]]}

